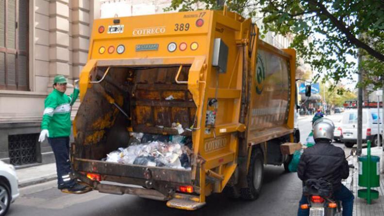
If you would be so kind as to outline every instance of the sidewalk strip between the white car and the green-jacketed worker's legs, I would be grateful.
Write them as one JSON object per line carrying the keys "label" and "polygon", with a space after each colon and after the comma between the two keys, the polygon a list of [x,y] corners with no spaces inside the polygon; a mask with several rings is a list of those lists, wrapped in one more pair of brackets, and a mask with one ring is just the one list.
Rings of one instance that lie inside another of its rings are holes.
{"label": "sidewalk strip between the white car and the green-jacketed worker's legs", "polygon": [[55,163],[17,169],[16,174],[19,188],[57,179]]}

